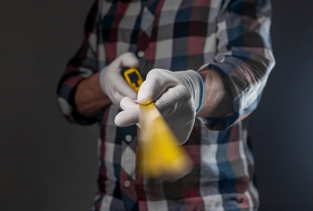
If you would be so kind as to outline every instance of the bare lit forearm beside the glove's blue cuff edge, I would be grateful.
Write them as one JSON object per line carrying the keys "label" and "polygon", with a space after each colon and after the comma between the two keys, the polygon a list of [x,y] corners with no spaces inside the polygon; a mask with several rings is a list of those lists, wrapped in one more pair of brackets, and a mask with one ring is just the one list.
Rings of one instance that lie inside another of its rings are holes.
{"label": "bare lit forearm beside the glove's blue cuff edge", "polygon": [[221,117],[232,111],[232,100],[220,75],[210,69],[199,71],[204,82],[203,104],[197,116]]}

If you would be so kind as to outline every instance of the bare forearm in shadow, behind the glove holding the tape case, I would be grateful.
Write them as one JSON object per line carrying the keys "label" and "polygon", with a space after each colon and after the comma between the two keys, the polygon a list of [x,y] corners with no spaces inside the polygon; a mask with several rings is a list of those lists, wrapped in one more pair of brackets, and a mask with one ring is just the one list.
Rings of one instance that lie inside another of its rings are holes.
{"label": "bare forearm in shadow, behind the glove holding the tape case", "polygon": [[99,74],[82,80],[76,89],[75,106],[79,114],[85,117],[96,114],[101,108],[110,104],[109,98],[103,94],[98,82]]}

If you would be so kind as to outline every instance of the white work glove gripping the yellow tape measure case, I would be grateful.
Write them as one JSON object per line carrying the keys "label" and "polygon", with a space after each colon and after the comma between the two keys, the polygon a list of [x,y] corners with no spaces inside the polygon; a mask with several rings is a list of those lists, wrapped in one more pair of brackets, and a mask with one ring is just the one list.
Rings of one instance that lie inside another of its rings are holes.
{"label": "white work glove gripping the yellow tape measure case", "polygon": [[137,93],[127,84],[126,80],[120,74],[121,67],[139,66],[139,60],[131,53],[123,53],[114,59],[108,66],[101,69],[99,73],[99,85],[102,92],[108,96],[111,102],[119,107],[120,100],[128,96],[136,99]]}

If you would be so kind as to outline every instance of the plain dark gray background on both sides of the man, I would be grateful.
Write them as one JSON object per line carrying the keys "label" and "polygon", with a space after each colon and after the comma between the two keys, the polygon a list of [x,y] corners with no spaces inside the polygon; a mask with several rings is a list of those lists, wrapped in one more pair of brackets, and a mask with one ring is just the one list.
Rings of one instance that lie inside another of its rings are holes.
{"label": "plain dark gray background on both sides of the man", "polygon": [[[91,2],[0,2],[2,211],[89,210],[96,128],[65,122],[55,90]],[[311,211],[313,1],[272,4],[276,66],[251,118],[260,211]]]}

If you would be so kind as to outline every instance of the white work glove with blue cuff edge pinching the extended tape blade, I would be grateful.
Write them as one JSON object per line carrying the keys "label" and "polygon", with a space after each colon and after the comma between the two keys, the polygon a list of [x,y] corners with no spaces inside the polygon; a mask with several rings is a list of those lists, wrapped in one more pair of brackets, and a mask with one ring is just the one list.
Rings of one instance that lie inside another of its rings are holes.
{"label": "white work glove with blue cuff edge pinching the extended tape blade", "polygon": [[120,101],[123,111],[116,115],[115,124],[119,127],[138,125],[139,104],[154,102],[179,144],[183,144],[190,136],[202,98],[203,80],[196,71],[152,69],[139,88],[137,100],[125,97]]}

